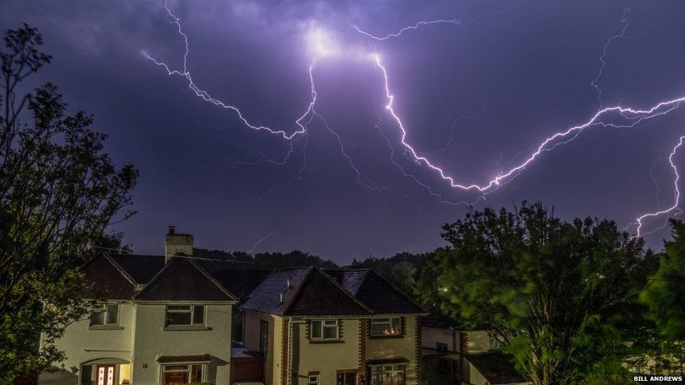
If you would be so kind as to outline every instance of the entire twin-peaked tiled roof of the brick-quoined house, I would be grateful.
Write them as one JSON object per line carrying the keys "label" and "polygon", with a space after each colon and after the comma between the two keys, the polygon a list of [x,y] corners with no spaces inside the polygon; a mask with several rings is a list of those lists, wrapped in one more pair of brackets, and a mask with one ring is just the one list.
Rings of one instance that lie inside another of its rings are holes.
{"label": "entire twin-peaked tiled roof of the brick-quoined house", "polygon": [[241,308],[281,316],[423,313],[401,290],[372,270],[321,270],[314,266],[274,270]]}

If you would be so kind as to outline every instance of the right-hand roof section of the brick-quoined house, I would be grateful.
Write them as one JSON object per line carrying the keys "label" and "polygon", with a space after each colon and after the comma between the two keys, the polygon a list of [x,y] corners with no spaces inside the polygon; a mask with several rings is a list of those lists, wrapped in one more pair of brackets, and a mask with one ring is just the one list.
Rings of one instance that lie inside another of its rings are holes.
{"label": "right-hand roof section of the brick-quoined house", "polygon": [[404,292],[371,269],[331,270],[347,291],[363,302],[373,313],[423,313]]}

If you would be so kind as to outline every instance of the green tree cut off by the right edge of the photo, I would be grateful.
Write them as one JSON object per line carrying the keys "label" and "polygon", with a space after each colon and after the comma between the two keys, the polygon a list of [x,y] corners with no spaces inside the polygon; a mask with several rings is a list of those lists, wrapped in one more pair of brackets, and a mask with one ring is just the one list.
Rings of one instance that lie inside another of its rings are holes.
{"label": "green tree cut off by the right edge of the photo", "polygon": [[640,292],[648,316],[660,332],[657,368],[682,373],[685,370],[685,224],[671,220],[672,241],[664,243],[665,252],[658,271]]}

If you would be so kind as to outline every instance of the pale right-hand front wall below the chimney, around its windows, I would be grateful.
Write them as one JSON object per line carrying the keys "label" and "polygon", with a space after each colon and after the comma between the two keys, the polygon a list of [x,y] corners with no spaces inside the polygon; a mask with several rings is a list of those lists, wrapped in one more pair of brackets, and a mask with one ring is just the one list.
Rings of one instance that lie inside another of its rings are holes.
{"label": "pale right-hand front wall below the chimney, around its windows", "polygon": [[[175,304],[179,304],[175,302]],[[199,304],[199,303],[194,303]],[[135,311],[133,384],[159,384],[159,356],[209,354],[207,381],[229,384],[231,355],[230,304],[204,304],[207,330],[164,330],[166,304],[138,304]]]}

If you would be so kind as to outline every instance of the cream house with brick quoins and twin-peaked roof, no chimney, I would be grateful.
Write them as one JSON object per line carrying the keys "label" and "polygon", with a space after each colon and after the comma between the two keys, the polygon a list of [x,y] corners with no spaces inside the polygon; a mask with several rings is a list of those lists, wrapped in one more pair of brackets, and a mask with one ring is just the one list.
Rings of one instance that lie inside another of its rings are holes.
{"label": "cream house with brick quoins and twin-peaked roof, no chimney", "polygon": [[267,385],[418,384],[423,311],[371,270],[275,270],[241,310]]}

